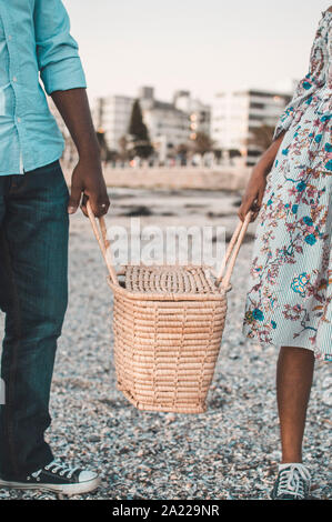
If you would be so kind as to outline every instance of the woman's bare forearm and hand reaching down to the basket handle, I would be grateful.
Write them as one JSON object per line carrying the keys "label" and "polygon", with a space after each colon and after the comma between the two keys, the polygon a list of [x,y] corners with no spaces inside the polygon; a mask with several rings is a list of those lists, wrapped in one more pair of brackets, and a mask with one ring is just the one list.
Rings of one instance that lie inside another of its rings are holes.
{"label": "woman's bare forearm and hand reaching down to the basket handle", "polygon": [[265,191],[266,175],[273,165],[283,137],[284,132],[279,134],[279,137],[271,143],[269,149],[261,155],[260,160],[253,168],[244,195],[242,198],[241,207],[238,212],[241,221],[244,221],[244,218],[250,210],[252,211],[251,221],[256,219]]}

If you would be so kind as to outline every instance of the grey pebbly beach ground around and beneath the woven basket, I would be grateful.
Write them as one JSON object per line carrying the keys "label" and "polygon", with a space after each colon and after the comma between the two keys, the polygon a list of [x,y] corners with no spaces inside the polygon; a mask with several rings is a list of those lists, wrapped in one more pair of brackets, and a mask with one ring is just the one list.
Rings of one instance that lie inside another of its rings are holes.
{"label": "grey pebbly beach ground around and beneath the woven basket", "polygon": [[[114,214],[123,200],[129,205],[133,194],[118,191],[115,195]],[[149,193],[134,195],[135,205],[151,209]],[[170,194],[163,197],[170,201]],[[232,230],[234,207],[228,208],[224,218],[215,217],[211,208],[217,204],[215,198],[220,207],[222,194],[204,198],[200,215],[205,212],[207,217],[208,209],[210,220],[218,219],[228,232]],[[178,219],[185,201],[193,215],[198,210],[198,194],[189,194],[184,202],[183,194],[172,194],[171,200],[178,208]],[[145,219],[153,222],[153,211]],[[165,223],[170,215],[162,219]],[[249,343],[241,334],[250,255],[251,244],[247,243],[233,274],[234,290],[229,294],[227,328],[207,413],[140,412],[115,390],[105,270],[88,220],[79,214],[72,218],[70,304],[59,342],[48,439],[57,456],[98,469],[102,475],[102,486],[95,493],[77,499],[269,498],[280,459],[274,387],[278,353],[274,348]],[[318,363],[304,441],[314,494],[322,499],[332,493],[328,470],[332,424],[329,375],[329,365]],[[0,490],[0,499],[54,495]]]}

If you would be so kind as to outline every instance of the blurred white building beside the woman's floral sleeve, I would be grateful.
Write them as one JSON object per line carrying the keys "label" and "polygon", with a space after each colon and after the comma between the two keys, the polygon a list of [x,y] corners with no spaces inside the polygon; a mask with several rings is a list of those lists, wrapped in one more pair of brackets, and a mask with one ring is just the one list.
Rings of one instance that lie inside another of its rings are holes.
{"label": "blurred white building beside the woman's floral sleeve", "polygon": [[289,94],[261,90],[221,92],[212,109],[212,139],[215,148],[239,151],[251,165],[261,150],[249,143],[254,128],[274,127],[290,100]]}

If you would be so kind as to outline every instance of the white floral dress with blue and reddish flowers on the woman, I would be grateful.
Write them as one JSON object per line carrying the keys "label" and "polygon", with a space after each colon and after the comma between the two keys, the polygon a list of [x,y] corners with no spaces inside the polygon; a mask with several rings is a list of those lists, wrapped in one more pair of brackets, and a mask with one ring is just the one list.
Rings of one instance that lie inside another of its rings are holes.
{"label": "white floral dress with blue and reddish flowers on the woman", "polygon": [[332,12],[310,70],[276,124],[285,131],[258,218],[243,331],[332,361]]}

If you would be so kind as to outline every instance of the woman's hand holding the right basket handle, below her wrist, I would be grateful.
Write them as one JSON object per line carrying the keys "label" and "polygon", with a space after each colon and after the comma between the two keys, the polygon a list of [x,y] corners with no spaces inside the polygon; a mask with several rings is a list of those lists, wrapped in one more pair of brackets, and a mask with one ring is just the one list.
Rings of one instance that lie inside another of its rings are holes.
{"label": "woman's hand holding the right basket handle, below her wrist", "polygon": [[262,204],[265,187],[265,171],[256,165],[252,171],[251,178],[242,198],[241,207],[238,212],[241,221],[244,221],[245,215],[250,210],[252,211],[251,221],[256,219]]}

